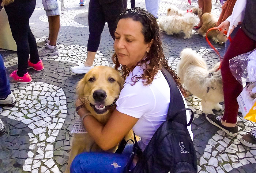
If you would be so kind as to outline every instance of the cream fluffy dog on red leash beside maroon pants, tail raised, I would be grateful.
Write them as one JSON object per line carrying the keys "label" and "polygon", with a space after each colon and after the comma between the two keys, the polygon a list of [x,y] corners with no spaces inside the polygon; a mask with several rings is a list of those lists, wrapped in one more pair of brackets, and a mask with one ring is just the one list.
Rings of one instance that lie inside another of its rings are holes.
{"label": "cream fluffy dog on red leash beside maroon pants, tail raised", "polygon": [[202,99],[203,113],[213,113],[212,109],[221,110],[219,102],[224,101],[221,70],[215,72],[219,63],[207,70],[202,56],[197,55],[191,48],[182,50],[180,58],[177,76],[186,89]]}

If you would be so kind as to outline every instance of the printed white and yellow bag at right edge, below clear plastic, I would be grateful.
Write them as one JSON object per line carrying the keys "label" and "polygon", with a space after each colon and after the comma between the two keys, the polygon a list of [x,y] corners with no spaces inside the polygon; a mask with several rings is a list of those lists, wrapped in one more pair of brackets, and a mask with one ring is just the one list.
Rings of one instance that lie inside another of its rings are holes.
{"label": "printed white and yellow bag at right edge, below clear plastic", "polygon": [[237,97],[241,113],[245,119],[256,122],[256,82],[249,82]]}

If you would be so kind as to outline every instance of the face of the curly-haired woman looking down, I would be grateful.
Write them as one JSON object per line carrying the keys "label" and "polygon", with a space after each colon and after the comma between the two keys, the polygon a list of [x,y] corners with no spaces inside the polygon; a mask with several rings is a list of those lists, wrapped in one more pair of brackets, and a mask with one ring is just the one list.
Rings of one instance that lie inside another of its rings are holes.
{"label": "face of the curly-haired woman looking down", "polygon": [[114,50],[118,57],[118,62],[131,69],[146,57],[146,51],[150,50],[150,43],[144,42],[142,34],[142,24],[133,21],[131,18],[118,21],[114,41]]}

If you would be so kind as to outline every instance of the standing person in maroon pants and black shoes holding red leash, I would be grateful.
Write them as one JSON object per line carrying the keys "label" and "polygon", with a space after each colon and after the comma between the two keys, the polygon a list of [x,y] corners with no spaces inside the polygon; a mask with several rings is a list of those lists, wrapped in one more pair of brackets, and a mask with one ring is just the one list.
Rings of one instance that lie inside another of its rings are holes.
{"label": "standing person in maroon pants and black shoes holding red leash", "polygon": [[[237,97],[241,93],[243,87],[234,78],[229,68],[229,60],[250,52],[256,48],[256,1],[255,0],[237,0],[234,5],[232,15],[223,21],[218,27],[227,31],[227,36],[233,33],[234,28],[242,21],[242,27],[232,39],[227,49],[221,66],[223,94],[225,102],[225,112],[223,117],[214,114],[207,114],[206,119],[213,125],[219,127],[225,133],[236,136],[238,134],[237,113],[238,103]],[[251,134],[254,135],[251,135]],[[246,146],[256,147],[256,129],[250,134],[246,134],[241,139],[241,143]]]}

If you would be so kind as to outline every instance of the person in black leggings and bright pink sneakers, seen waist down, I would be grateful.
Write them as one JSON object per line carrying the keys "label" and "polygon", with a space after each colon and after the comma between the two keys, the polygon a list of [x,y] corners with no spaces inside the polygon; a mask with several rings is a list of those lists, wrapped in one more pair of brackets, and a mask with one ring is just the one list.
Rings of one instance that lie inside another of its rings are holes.
{"label": "person in black leggings and bright pink sneakers, seen waist down", "polygon": [[[27,68],[44,69],[39,59],[37,43],[29,27],[29,18],[35,9],[36,0],[3,0],[1,4],[7,13],[12,36],[17,45],[18,70],[11,73],[11,83],[30,83]],[[30,59],[29,59],[30,55]]]}

